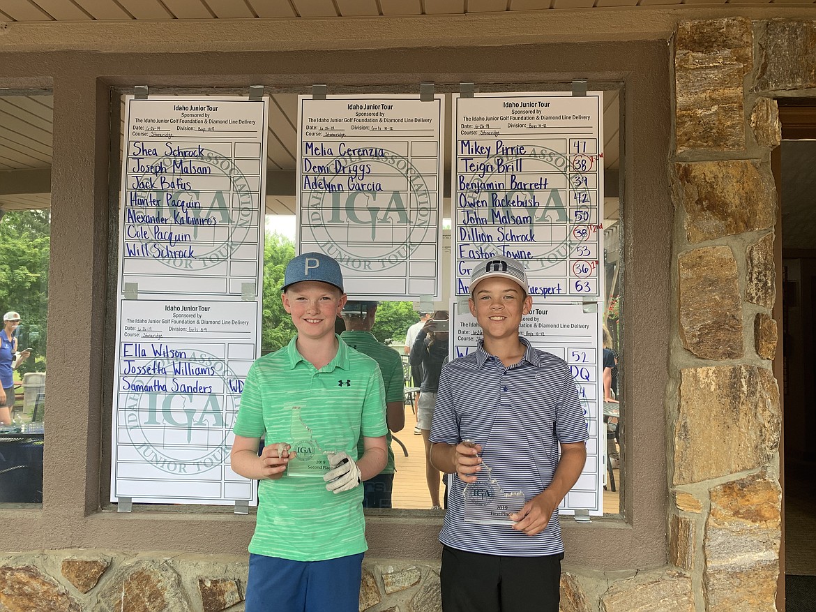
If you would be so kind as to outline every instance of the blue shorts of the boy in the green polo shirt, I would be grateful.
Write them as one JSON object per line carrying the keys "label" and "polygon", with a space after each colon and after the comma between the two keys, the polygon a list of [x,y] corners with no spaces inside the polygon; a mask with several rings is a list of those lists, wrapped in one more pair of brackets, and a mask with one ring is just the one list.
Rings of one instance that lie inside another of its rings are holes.
{"label": "blue shorts of the boy in the green polo shirt", "polygon": [[357,612],[363,553],[326,561],[250,554],[246,612]]}

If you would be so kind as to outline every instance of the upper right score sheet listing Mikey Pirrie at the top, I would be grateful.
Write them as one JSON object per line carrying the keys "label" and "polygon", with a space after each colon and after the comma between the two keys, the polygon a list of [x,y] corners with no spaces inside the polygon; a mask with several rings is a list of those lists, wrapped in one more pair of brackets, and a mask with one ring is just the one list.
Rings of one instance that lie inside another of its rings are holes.
{"label": "upper right score sheet listing Mikey Pirrie at the top", "polygon": [[534,297],[602,299],[602,114],[601,92],[454,96],[455,295],[504,255]]}

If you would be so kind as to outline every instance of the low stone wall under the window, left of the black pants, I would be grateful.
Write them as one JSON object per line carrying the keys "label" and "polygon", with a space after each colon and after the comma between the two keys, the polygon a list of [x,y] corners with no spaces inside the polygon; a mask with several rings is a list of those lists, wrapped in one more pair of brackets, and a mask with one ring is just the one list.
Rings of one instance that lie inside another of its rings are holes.
{"label": "low stone wall under the window, left of the black pants", "polygon": [[[239,612],[247,570],[222,555],[26,552],[0,557],[0,610]],[[365,561],[360,610],[441,610],[439,564]]]}

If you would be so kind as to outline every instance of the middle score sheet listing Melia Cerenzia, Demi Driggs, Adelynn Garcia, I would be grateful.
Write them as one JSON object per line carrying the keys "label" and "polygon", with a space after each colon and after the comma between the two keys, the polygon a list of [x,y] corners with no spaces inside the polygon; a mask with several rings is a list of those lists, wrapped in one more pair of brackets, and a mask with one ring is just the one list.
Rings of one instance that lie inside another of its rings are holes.
{"label": "middle score sheet listing Melia Cerenzia, Demi Driggs, Adelynn Garcia", "polygon": [[441,298],[444,103],[299,96],[299,252],[337,259],[355,299]]}

